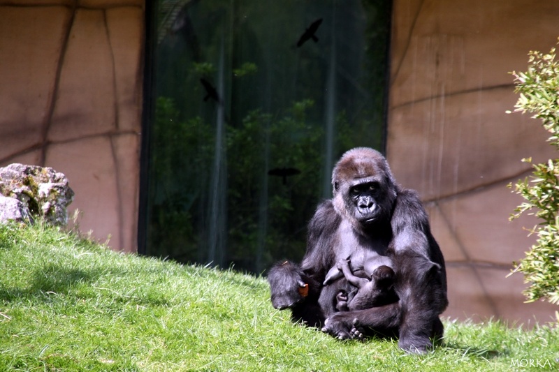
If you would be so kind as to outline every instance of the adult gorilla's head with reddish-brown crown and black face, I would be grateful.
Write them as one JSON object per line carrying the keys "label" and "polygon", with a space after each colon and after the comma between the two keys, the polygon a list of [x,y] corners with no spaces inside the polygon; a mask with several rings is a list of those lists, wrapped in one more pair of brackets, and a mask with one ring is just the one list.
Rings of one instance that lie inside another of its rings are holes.
{"label": "adult gorilla's head with reddish-brown crown and black face", "polygon": [[334,207],[356,230],[389,222],[398,186],[386,158],[374,149],[347,151],[332,172]]}

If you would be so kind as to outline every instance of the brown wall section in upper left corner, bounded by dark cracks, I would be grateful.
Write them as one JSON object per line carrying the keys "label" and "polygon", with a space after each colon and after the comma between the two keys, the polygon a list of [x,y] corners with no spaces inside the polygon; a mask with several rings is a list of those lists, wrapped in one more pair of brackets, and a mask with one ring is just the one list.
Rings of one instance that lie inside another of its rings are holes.
{"label": "brown wall section in upper left corner, bounded by dark cracks", "polygon": [[70,17],[64,7],[0,6],[0,161],[43,141]]}

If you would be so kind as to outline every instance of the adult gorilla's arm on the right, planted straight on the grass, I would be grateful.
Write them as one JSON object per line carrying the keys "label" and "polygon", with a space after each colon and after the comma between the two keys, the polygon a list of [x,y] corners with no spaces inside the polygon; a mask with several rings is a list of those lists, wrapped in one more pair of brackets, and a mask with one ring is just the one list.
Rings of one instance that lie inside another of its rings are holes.
{"label": "adult gorilla's arm on the right, planted straight on the grass", "polygon": [[447,308],[447,273],[444,258],[431,235],[428,216],[415,191],[398,195],[392,218],[393,249],[397,260],[397,288],[401,311],[399,345],[425,351],[429,338],[441,336],[439,315]]}

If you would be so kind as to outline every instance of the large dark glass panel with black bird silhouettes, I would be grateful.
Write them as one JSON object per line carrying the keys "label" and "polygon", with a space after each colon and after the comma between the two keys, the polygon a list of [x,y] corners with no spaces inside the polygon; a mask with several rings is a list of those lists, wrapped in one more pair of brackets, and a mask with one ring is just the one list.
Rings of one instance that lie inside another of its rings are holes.
{"label": "large dark glass panel with black bird silhouettes", "polygon": [[383,149],[390,3],[155,2],[147,255],[254,272],[303,255],[335,160]]}

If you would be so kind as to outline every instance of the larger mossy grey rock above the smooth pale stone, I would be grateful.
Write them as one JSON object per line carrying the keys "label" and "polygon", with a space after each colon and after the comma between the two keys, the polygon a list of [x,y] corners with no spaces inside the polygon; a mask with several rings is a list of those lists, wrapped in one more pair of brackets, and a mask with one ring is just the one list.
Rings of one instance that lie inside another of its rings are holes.
{"label": "larger mossy grey rock above the smooth pale stone", "polygon": [[[29,216],[51,225],[68,223],[67,207],[74,197],[68,179],[52,168],[13,163],[0,168],[0,194],[19,200]],[[11,218],[10,218],[11,219]]]}

